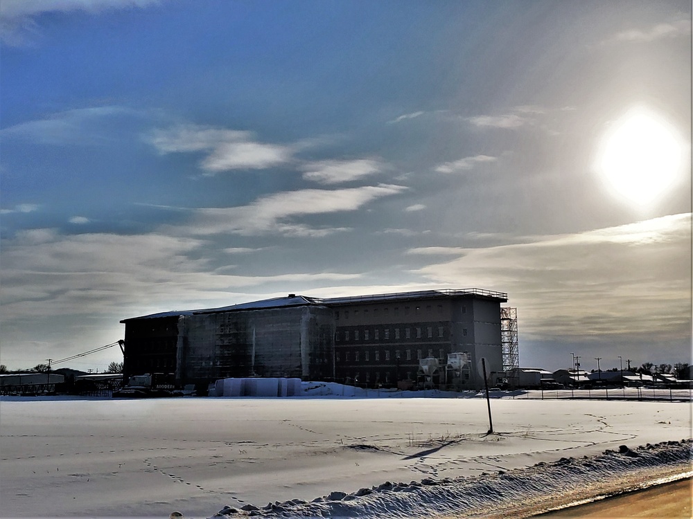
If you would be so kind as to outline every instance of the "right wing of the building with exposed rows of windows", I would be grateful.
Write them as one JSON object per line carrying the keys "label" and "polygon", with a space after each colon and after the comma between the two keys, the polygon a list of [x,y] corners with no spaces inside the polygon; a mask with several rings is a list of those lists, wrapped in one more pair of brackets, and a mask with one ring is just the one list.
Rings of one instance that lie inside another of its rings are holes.
{"label": "right wing of the building with exposed rows of windows", "polygon": [[455,385],[480,388],[486,371],[502,371],[500,303],[507,294],[480,289],[432,290],[323,300],[334,311],[335,377],[367,385],[421,378],[421,360],[437,360],[433,385],[451,383],[448,354],[468,367]]}

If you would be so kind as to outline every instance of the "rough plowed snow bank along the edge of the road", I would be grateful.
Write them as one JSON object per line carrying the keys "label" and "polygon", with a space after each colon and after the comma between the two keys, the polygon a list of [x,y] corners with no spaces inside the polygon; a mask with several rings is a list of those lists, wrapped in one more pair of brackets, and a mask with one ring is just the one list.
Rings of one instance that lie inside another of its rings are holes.
{"label": "rough plowed snow bank along the edge of the road", "polygon": [[595,498],[599,493],[633,489],[642,485],[648,469],[690,476],[692,442],[691,439],[667,441],[635,450],[622,445],[619,450],[606,450],[599,456],[561,457],[552,463],[540,462],[529,468],[484,473],[479,477],[425,478],[409,484],[385,482],[353,493],[333,491],[312,502],[295,499],[268,503],[262,508],[252,504],[240,509],[227,506],[216,515],[335,519],[508,517],[508,514],[526,517],[556,503],[567,504]]}

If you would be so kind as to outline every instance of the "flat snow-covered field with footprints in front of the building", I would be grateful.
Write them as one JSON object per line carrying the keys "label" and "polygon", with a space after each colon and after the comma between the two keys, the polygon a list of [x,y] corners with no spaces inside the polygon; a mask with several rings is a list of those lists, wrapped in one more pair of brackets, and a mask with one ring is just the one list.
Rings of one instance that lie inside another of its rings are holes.
{"label": "flat snow-covered field with footprints in front of the building", "polygon": [[[491,406],[495,433],[486,435],[486,401],[478,398],[2,397],[0,516],[166,519],[178,510],[205,518],[225,507],[274,516],[452,515],[453,487],[437,483],[457,482],[455,498],[473,489],[469,495],[492,502],[491,480],[512,469],[520,469],[513,473],[521,500],[527,481],[541,494],[550,480],[569,478],[568,469],[577,481],[591,471],[598,483],[605,471],[624,471],[626,482],[628,471],[667,459],[671,471],[690,468],[690,444],[676,446],[676,459],[666,449],[637,449],[690,438],[687,402]],[[638,452],[604,456],[622,445]],[[585,456],[593,458],[573,461]],[[289,500],[297,507],[252,511]]]}

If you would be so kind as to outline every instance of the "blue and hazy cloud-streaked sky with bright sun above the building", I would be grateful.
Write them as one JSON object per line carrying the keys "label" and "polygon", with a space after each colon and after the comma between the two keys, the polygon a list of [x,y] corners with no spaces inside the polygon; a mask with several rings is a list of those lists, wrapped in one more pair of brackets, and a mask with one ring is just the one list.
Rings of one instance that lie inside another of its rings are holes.
{"label": "blue and hazy cloud-streaked sky with bright sun above the building", "polygon": [[518,309],[524,367],[691,363],[691,19],[3,0],[0,362],[159,311],[475,287]]}

